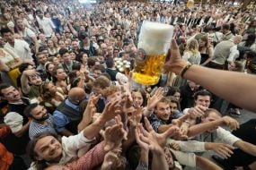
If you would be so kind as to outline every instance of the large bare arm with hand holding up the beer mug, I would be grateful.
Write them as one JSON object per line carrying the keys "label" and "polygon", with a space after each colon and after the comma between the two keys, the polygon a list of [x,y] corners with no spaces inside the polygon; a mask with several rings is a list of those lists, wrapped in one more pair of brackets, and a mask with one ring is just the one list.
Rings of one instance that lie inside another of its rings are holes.
{"label": "large bare arm with hand holding up the beer mug", "polygon": [[[175,39],[172,39],[171,55],[171,59],[164,65],[165,70],[181,74],[181,71],[188,64],[181,59],[180,50]],[[256,111],[256,105],[254,104],[256,100],[255,76],[192,65],[183,77],[199,83],[217,96],[225,98],[237,106]]]}

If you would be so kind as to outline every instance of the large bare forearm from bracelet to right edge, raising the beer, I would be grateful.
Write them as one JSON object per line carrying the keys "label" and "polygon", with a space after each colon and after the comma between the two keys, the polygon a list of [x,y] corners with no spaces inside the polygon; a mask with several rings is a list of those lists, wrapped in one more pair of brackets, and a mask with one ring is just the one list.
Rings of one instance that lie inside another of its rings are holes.
{"label": "large bare forearm from bracelet to right edge, raising the beer", "polygon": [[[218,75],[218,79],[215,79],[216,75]],[[230,79],[231,77],[234,79]],[[199,83],[217,96],[231,101],[234,105],[256,111],[256,105],[254,105],[256,100],[254,90],[256,89],[255,76],[192,65],[184,74],[184,78]],[[242,87],[243,89],[241,89]],[[241,98],[234,98],[234,94],[236,97],[239,96]]]}

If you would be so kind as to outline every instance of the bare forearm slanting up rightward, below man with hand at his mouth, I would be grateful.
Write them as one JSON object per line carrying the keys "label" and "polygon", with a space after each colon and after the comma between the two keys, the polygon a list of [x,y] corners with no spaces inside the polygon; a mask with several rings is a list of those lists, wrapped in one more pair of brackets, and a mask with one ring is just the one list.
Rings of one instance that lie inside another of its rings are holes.
{"label": "bare forearm slanting up rightward, below man with hand at his mouth", "polygon": [[190,126],[188,137],[196,136],[202,132],[206,132],[207,130],[210,130],[222,123],[221,120],[216,120],[209,123],[199,123],[193,126]]}

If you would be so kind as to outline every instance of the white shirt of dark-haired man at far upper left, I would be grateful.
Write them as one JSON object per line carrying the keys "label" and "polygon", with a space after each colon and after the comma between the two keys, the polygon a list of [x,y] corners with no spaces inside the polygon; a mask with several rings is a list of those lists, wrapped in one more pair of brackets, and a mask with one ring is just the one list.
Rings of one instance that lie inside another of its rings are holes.
{"label": "white shirt of dark-haired man at far upper left", "polygon": [[31,48],[29,46],[29,44],[22,40],[22,39],[14,39],[14,47],[12,47],[9,43],[6,43],[4,45],[4,48],[8,48],[13,50],[13,52],[20,56],[20,58],[22,59],[22,61],[24,60],[32,60],[32,56],[31,56]]}

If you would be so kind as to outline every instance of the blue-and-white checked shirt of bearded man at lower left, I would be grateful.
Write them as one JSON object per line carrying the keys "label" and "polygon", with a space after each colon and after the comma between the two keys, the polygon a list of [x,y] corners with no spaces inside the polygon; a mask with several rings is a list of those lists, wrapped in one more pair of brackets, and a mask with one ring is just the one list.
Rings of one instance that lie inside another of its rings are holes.
{"label": "blue-and-white checked shirt of bearded man at lower left", "polygon": [[35,137],[35,135],[41,132],[51,132],[53,134],[57,134],[54,128],[52,115],[49,115],[49,118],[46,120],[46,122],[47,124],[40,124],[35,121],[31,122],[30,130],[29,130],[29,135],[31,140]]}

